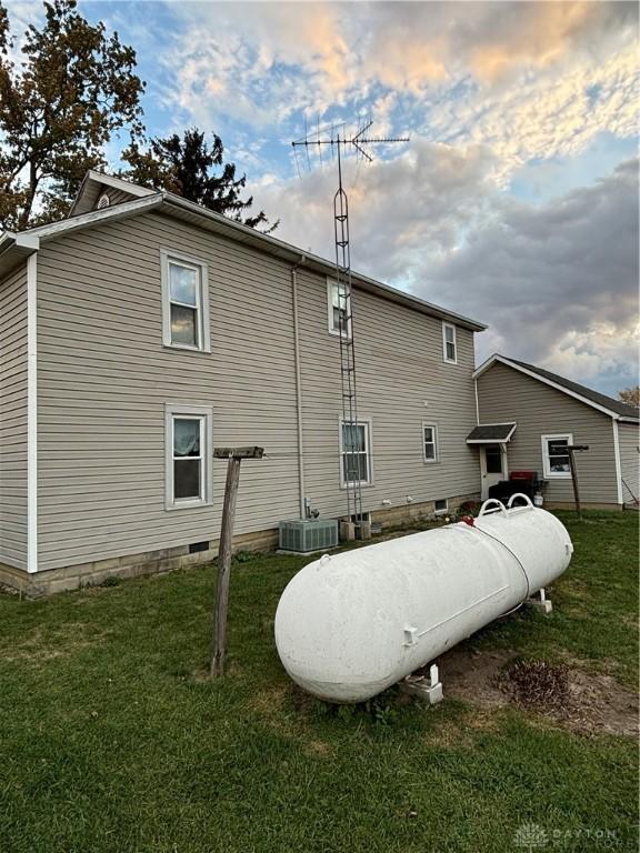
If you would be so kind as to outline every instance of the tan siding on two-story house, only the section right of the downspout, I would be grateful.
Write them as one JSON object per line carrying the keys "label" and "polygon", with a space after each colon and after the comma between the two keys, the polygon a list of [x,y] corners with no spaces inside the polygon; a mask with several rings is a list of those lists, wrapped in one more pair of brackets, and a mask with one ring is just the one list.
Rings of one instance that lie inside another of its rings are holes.
{"label": "tan siding on two-story house, only the section right of the downspout", "polygon": [[[299,287],[307,494],[323,515],[343,513],[339,340],[328,332],[326,285],[302,272]],[[444,364],[440,320],[361,291],[353,317],[358,414],[372,422],[373,485],[362,489],[363,510],[478,491],[464,443],[476,423],[472,332],[458,329],[458,364]],[[438,463],[423,461],[422,422],[438,425]]]}

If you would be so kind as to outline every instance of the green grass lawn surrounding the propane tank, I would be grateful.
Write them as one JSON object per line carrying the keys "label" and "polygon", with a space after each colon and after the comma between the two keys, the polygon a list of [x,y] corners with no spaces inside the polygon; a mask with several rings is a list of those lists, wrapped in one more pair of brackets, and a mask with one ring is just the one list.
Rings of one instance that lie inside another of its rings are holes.
{"label": "green grass lawn surrounding the propane tank", "polygon": [[[579,660],[637,680],[637,513],[569,513],[554,612],[480,649]],[[273,644],[304,559],[232,569],[229,674],[202,678],[213,569],[41,601],[0,596],[0,852],[637,850],[632,739],[573,734],[461,702],[378,715],[307,701]],[[444,684],[444,690],[447,685]]]}

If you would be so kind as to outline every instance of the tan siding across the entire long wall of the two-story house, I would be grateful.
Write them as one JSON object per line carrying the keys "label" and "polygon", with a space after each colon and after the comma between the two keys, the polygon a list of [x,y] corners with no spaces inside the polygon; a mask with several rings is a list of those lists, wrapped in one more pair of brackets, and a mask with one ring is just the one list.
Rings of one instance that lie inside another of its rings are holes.
{"label": "tan siding across the entire long wall of the two-story house", "polygon": [[[162,347],[160,250],[208,264],[211,353]],[[39,259],[40,569],[216,539],[213,505],[164,510],[164,403],[213,408],[213,444],[259,444],[244,462],[236,531],[299,514],[290,267],[253,249],[144,214],[47,243]],[[307,494],[344,511],[339,488],[339,342],[327,285],[299,273]],[[478,490],[464,436],[474,423],[472,334],[442,363],[441,323],[358,293],[360,414],[373,421],[376,485],[366,509]],[[427,403],[427,404],[426,404]],[[422,462],[421,422],[442,462]]]}

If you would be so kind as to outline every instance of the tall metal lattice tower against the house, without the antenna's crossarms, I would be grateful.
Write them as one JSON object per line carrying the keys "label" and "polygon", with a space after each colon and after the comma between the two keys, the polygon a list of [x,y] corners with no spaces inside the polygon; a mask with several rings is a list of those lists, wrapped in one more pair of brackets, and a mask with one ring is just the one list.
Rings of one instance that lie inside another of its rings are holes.
{"label": "tall metal lattice tower against the house, without the antenna's crossarms", "polygon": [[[348,521],[358,530],[362,518],[362,481],[360,469],[358,424],[358,397],[356,388],[356,345],[353,334],[353,309],[351,300],[351,252],[349,248],[349,201],[342,189],[342,164],[340,160],[340,137],[338,137],[338,191],[333,197],[333,227],[336,235],[336,279],[338,285],[338,309],[340,333],[340,383],[342,393],[342,451],[346,460],[344,480],[347,491]],[[340,464],[344,464],[342,459]],[[369,462],[368,462],[369,464]]]}

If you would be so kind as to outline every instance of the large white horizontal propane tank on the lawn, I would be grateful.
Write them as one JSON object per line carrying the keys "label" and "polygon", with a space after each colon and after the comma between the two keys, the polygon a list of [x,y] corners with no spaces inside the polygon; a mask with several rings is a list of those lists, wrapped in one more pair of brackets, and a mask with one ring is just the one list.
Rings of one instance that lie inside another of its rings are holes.
{"label": "large white horizontal propane tank on the lawn", "polygon": [[564,525],[518,494],[486,501],[472,525],[324,554],[280,598],[280,660],[309,693],[362,702],[547,586],[572,552]]}

